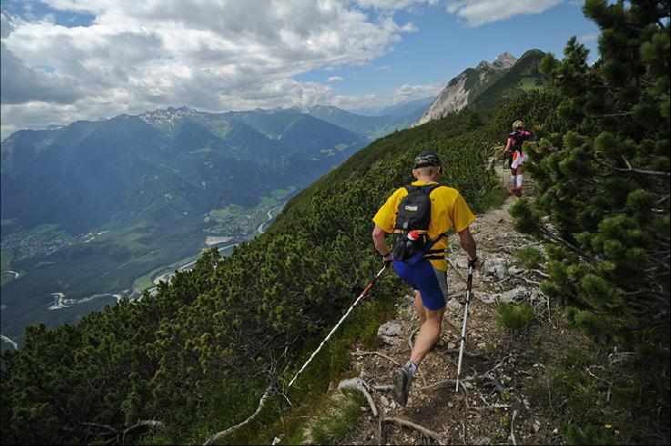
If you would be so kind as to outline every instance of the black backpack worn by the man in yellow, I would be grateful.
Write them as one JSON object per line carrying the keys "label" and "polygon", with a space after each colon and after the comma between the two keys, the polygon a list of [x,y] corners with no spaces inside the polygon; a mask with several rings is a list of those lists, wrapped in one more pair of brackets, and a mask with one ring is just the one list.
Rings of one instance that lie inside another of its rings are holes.
{"label": "black backpack worn by the man in yellow", "polygon": [[431,194],[441,185],[408,185],[408,195],[401,199],[396,212],[396,226],[393,235],[393,258],[408,263],[416,263],[431,248],[429,222],[431,220]]}

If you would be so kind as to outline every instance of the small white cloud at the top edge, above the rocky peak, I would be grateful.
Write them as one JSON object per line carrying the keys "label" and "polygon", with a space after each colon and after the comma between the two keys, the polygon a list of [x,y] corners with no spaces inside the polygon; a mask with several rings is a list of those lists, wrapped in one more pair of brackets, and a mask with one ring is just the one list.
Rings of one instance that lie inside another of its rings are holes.
{"label": "small white cloud at the top edge, above the rocky peak", "polygon": [[513,15],[540,14],[563,0],[456,0],[447,5],[447,12],[466,20],[469,26],[480,26]]}

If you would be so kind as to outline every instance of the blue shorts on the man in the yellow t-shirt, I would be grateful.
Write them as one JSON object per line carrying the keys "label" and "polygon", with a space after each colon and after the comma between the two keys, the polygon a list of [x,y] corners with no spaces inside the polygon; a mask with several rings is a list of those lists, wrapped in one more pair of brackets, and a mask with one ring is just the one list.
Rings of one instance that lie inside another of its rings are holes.
{"label": "blue shorts on the man in the yellow t-shirt", "polygon": [[447,302],[447,272],[433,267],[429,260],[407,263],[394,259],[393,267],[405,283],[420,292],[426,309],[442,309]]}

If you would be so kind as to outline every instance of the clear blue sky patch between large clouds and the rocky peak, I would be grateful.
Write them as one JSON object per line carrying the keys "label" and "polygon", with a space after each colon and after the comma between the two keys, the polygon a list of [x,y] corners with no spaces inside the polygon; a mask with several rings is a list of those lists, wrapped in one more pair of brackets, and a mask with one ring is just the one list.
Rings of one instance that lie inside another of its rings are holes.
{"label": "clear blue sky patch between large clouds and the rocky peak", "polygon": [[300,80],[328,82],[332,76],[339,94],[364,95],[392,90],[402,84],[445,83],[481,60],[493,61],[503,52],[520,57],[538,48],[562,56],[566,41],[582,37],[592,56],[598,54],[598,27],[585,18],[582,3],[564,2],[536,15],[515,15],[480,26],[469,26],[440,5],[424,5],[414,13],[397,14],[401,23],[412,22],[416,33],[403,36],[393,50],[366,66],[317,69],[297,76]]}

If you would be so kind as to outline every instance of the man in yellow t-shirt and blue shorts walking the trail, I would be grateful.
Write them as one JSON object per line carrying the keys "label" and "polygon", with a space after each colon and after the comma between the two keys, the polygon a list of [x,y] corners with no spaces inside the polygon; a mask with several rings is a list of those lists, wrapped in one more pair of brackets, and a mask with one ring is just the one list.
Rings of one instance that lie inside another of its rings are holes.
{"label": "man in yellow t-shirt and blue shorts walking the trail", "polygon": [[[397,189],[372,219],[372,238],[382,260],[393,263],[401,279],[415,290],[415,309],[422,327],[410,360],[394,370],[394,399],[405,406],[412,378],[424,356],[441,334],[447,303],[447,231],[454,229],[475,265],[475,240],[468,226],[475,217],[456,189],[438,184],[441,160],[431,151],[420,153],[412,167],[417,179]],[[393,233],[393,250],[387,248],[385,233]]]}

